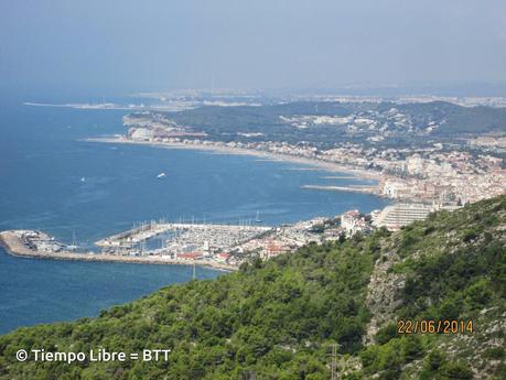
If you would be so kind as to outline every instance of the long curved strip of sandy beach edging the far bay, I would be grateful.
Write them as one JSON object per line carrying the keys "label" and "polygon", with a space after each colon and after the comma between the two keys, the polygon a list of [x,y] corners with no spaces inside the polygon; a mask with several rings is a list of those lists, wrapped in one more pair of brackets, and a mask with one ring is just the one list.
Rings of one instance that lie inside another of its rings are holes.
{"label": "long curved strip of sandy beach edging the far bay", "polygon": [[258,158],[261,161],[279,161],[279,162],[291,162],[303,165],[311,165],[319,169],[322,169],[327,172],[334,173],[347,173],[353,174],[357,178],[364,180],[380,180],[380,173],[375,173],[365,169],[355,169],[349,166],[344,166],[338,163],[333,163],[329,161],[321,161],[310,158],[295,156],[284,153],[274,153],[269,151],[260,151],[255,149],[245,149],[245,148],[233,148],[233,146],[222,146],[215,144],[187,144],[184,142],[158,142],[158,141],[133,141],[126,139],[123,137],[115,138],[88,138],[83,139],[82,141],[87,142],[104,142],[104,143],[119,143],[119,144],[133,144],[133,145],[150,145],[154,148],[166,148],[166,149],[183,149],[183,150],[194,150],[194,151],[208,151],[215,152],[216,154],[234,154],[234,155],[249,155]]}

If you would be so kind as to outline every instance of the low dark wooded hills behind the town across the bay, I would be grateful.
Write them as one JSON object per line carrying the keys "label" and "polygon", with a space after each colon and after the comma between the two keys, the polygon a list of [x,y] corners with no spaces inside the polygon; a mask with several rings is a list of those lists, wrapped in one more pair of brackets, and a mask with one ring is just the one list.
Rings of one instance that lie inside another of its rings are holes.
{"label": "low dark wooded hills behind the town across the bay", "polygon": [[[286,141],[292,144],[311,143],[321,149],[333,148],[335,143],[349,141],[367,145],[366,138],[375,135],[377,130],[362,130],[346,133],[343,126],[319,124],[308,129],[293,128],[281,120],[283,117],[298,116],[340,116],[351,115],[370,117],[388,124],[395,133],[388,139],[376,142],[375,148],[423,146],[427,135],[406,133],[406,126],[397,129],[392,120],[385,119],[385,112],[396,108],[409,118],[415,130],[424,130],[429,123],[439,126],[430,133],[429,145],[435,141],[454,141],[454,137],[504,133],[506,129],[506,108],[461,107],[445,101],[426,104],[397,105],[394,102],[331,102],[331,101],[294,101],[288,104],[263,105],[259,107],[217,107],[208,106],[165,116],[181,126],[209,134],[215,141]],[[244,137],[243,133],[261,133],[257,137]]]}

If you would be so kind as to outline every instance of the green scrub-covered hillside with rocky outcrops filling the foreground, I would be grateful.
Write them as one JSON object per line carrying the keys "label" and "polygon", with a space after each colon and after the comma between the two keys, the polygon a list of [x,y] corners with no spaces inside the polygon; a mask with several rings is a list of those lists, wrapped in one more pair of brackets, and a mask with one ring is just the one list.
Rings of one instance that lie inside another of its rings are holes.
{"label": "green scrub-covered hillside with rocky outcrops filling the foreground", "polygon": [[[213,281],[161,289],[97,318],[0,337],[0,379],[506,378],[506,196],[397,234],[310,245]],[[397,318],[473,333],[397,333]],[[17,362],[20,349],[139,352],[169,361]]]}

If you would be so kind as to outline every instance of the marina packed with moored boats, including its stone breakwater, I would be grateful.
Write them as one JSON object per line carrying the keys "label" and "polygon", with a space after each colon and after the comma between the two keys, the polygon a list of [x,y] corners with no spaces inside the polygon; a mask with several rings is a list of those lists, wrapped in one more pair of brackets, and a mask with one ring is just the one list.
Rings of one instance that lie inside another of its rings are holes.
{"label": "marina packed with moored boats, including its stone breakwater", "polygon": [[229,252],[271,231],[271,227],[244,225],[142,222],[95,242],[100,252],[64,245],[37,230],[0,232],[0,242],[13,256],[41,259],[109,261],[150,264],[196,264],[234,270]]}

